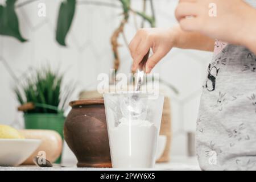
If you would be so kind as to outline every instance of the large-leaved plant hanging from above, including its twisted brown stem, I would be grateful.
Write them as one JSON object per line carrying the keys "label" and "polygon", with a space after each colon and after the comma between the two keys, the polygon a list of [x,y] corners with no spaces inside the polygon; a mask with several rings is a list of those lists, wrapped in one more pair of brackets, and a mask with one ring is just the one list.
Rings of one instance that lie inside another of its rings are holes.
{"label": "large-leaved plant hanging from above, including its twisted brown stem", "polygon": [[[27,0],[21,3],[17,0],[5,0],[5,5],[0,5],[0,35],[7,35],[13,36],[14,38],[18,39],[20,42],[26,42],[27,39],[23,38],[19,31],[19,18],[15,13],[15,9],[19,7],[26,6],[29,3],[36,2],[39,0]],[[114,3],[114,1],[119,2]],[[138,0],[134,0],[138,1]],[[150,2],[151,12],[152,15],[146,14],[146,2]],[[155,27],[155,13],[154,13],[154,6],[153,0],[141,0],[143,3],[143,11],[137,11],[131,8],[131,0],[109,0],[109,1],[98,1],[98,0],[63,0],[60,3],[59,14],[57,17],[57,26],[56,26],[56,35],[55,39],[57,43],[61,46],[67,46],[65,43],[65,39],[67,34],[71,28],[73,18],[76,13],[76,6],[78,5],[96,5],[96,6],[108,6],[113,7],[116,9],[122,10],[123,19],[121,23],[117,27],[117,29],[113,32],[111,38],[111,44],[113,49],[113,56],[114,56],[114,69],[117,72],[119,69],[120,58],[118,52],[118,37],[122,34],[123,39],[125,40],[126,46],[128,45],[126,36],[124,34],[123,29],[125,28],[125,24],[128,22],[130,18],[130,14],[140,16],[142,20],[142,26],[144,26],[144,21],[148,22],[151,27]],[[138,28],[137,25],[135,25]]]}

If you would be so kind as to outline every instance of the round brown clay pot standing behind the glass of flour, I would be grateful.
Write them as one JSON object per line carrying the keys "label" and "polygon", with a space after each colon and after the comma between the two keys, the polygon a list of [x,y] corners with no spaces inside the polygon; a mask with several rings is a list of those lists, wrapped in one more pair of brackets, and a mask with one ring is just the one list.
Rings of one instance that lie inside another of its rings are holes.
{"label": "round brown clay pot standing behind the glass of flour", "polygon": [[112,167],[103,99],[72,101],[64,138],[76,155],[77,167]]}

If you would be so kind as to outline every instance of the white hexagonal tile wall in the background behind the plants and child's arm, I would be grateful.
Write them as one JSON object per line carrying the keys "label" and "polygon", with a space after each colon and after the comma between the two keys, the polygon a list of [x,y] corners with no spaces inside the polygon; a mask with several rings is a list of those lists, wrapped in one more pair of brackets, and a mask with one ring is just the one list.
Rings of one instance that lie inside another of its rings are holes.
{"label": "white hexagonal tile wall in the background behind the plants and child's arm", "polygon": [[[19,0],[23,2],[25,0]],[[80,0],[82,1],[82,0]],[[101,0],[108,2],[118,1]],[[47,6],[46,18],[37,15],[38,3]],[[158,27],[171,27],[176,23],[174,10],[177,0],[155,0]],[[0,3],[3,3],[0,0]],[[134,9],[141,9],[141,1],[132,0]],[[110,36],[118,26],[121,10],[93,5],[78,5],[75,20],[67,37],[68,47],[60,47],[55,42],[55,26],[60,0],[41,0],[17,9],[22,35],[29,39],[19,43],[16,39],[0,36],[0,59],[4,59],[17,77],[29,67],[42,67],[50,64],[53,68],[65,71],[66,81],[77,82],[77,92],[81,89],[95,89],[98,73],[109,73],[113,55]],[[139,21],[139,20],[138,20]],[[126,26],[127,39],[135,34],[134,19]],[[122,47],[120,72],[130,71],[131,57],[120,39]],[[211,53],[181,50],[174,48],[154,72],[175,85],[179,96],[170,92],[172,105],[172,155],[187,154],[187,131],[195,131],[197,108],[200,100],[201,85]],[[0,123],[17,127],[23,126],[22,114],[16,111],[18,102],[12,91],[13,78],[0,61]],[[75,99],[75,98],[74,98]],[[71,155],[71,152],[65,152]]]}

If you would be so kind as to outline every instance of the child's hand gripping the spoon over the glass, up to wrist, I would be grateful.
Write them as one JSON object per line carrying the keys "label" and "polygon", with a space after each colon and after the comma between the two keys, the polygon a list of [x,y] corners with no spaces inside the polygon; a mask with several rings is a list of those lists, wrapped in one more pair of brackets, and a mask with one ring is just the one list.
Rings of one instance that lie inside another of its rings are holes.
{"label": "child's hand gripping the spoon over the glass, up to wrist", "polygon": [[146,73],[150,73],[156,63],[174,47],[175,38],[175,28],[143,28],[139,30],[129,45],[134,60],[132,70],[135,71],[138,68],[144,55],[152,48],[153,55],[147,60],[146,70],[144,70]]}

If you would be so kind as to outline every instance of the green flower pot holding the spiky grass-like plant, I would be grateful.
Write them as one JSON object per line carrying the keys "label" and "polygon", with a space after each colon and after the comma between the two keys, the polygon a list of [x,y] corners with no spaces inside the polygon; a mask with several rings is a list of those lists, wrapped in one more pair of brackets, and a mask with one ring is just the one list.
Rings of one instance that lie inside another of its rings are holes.
{"label": "green flower pot holding the spiky grass-like plant", "polygon": [[[26,129],[42,129],[42,130],[55,130],[60,134],[63,139],[63,127],[65,117],[63,113],[59,114],[24,114],[24,122]],[[61,155],[55,161],[59,164],[61,162]]]}

